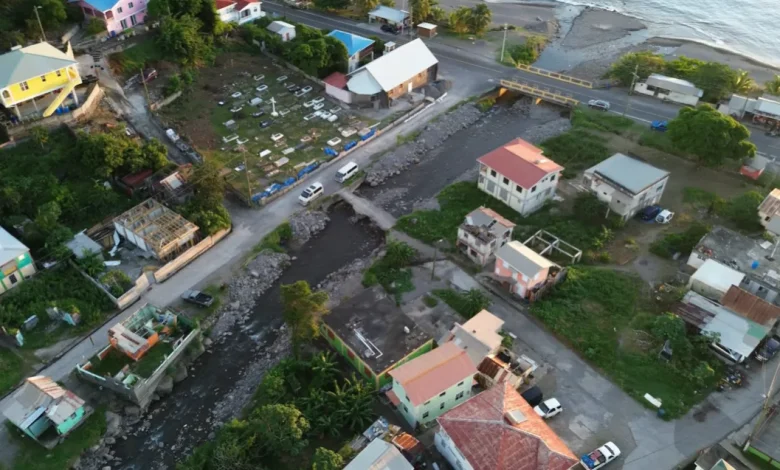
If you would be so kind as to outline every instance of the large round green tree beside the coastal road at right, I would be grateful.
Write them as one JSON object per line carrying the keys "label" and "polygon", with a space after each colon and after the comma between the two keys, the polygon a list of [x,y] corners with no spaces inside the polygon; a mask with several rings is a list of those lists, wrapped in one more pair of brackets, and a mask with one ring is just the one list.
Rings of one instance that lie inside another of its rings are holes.
{"label": "large round green tree beside the coastal road at right", "polygon": [[707,104],[681,109],[669,122],[668,133],[678,149],[705,165],[718,166],[727,159],[741,160],[756,154],[747,128]]}

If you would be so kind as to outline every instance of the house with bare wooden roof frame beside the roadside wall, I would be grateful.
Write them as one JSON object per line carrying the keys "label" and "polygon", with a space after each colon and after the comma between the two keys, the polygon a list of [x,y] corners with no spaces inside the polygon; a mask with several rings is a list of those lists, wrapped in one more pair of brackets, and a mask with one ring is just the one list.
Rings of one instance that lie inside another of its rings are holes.
{"label": "house with bare wooden roof frame beside the roadside wall", "polygon": [[159,260],[175,257],[195,242],[198,226],[154,199],[114,219],[117,233]]}

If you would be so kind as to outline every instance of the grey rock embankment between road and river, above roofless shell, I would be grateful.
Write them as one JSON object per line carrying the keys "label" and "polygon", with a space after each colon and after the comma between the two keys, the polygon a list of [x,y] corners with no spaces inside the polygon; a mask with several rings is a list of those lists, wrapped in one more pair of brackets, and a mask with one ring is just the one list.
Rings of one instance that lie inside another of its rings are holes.
{"label": "grey rock embankment between road and river, above roofless shell", "polygon": [[[279,279],[284,268],[290,263],[290,256],[263,250],[247,264],[244,273],[234,277],[228,286],[228,302],[212,318],[216,318],[211,327],[214,339],[232,335],[230,329],[243,325],[248,319],[255,299]],[[206,326],[208,327],[208,326]]]}

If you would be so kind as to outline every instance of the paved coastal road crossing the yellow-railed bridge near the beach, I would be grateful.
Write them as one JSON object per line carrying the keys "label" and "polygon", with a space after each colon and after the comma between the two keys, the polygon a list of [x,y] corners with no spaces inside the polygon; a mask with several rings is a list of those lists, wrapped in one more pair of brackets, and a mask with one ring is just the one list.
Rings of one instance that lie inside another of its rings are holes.
{"label": "paved coastal road crossing the yellow-railed bridge near the beach", "polygon": [[[409,41],[407,36],[395,36],[378,30],[376,25],[360,23],[347,18],[331,16],[320,12],[293,10],[288,7],[264,2],[263,9],[267,12],[287,16],[297,22],[307,24],[321,29],[340,29],[355,34],[371,34],[381,37],[386,41],[394,41],[397,44],[403,44]],[[624,88],[611,89],[589,89],[567,82],[562,82],[552,78],[543,77],[533,73],[517,70],[496,63],[492,56],[475,54],[468,49],[460,48],[448,44],[449,38],[424,39],[431,51],[439,59],[439,62],[445,66],[459,68],[472,73],[489,76],[493,82],[499,79],[515,79],[528,84],[547,88],[550,90],[562,91],[569,94],[579,101],[587,102],[592,99],[607,100],[612,104],[612,113],[623,114],[640,122],[649,123],[656,119],[671,119],[677,115],[680,106],[672,103],[664,103],[654,98],[646,96],[629,96]],[[445,42],[447,41],[447,42]],[[464,42],[464,45],[466,43]],[[458,87],[458,83],[454,84]],[[777,155],[780,157],[780,139],[768,137],[761,131],[753,133],[751,140],[758,147],[759,152],[768,155]]]}

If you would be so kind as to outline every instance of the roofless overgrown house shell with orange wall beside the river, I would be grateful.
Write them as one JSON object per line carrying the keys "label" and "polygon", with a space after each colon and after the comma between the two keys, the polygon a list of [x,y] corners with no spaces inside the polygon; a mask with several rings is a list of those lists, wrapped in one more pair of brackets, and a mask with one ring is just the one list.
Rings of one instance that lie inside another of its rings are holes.
{"label": "roofless overgrown house shell with orange wall beside the river", "polygon": [[[76,371],[82,379],[146,407],[158,387],[172,387],[166,371],[182,359],[187,346],[199,337],[200,329],[185,316],[143,305],[114,325],[108,333],[109,344],[78,365]],[[200,343],[196,344],[200,348]],[[162,384],[166,377],[170,383]]]}

